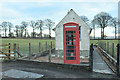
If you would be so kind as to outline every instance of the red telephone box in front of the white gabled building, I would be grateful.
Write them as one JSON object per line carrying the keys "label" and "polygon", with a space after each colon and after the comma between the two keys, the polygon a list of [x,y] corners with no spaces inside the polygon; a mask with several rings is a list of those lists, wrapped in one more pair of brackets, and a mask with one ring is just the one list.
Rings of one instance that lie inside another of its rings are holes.
{"label": "red telephone box in front of the white gabled building", "polygon": [[79,64],[79,24],[68,22],[63,24],[64,63]]}

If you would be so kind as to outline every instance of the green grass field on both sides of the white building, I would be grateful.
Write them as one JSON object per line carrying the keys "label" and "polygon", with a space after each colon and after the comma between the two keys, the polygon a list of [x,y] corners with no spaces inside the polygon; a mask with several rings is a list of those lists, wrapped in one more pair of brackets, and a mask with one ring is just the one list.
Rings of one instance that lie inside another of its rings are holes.
{"label": "green grass field on both sides of the white building", "polygon": [[[39,42],[41,42],[41,51],[45,50],[45,43],[50,43],[53,42],[53,46],[55,47],[55,40],[54,39],[9,39],[9,38],[4,38],[2,39],[2,45],[11,43],[12,48],[13,44],[19,44],[20,47],[20,52],[23,53],[24,55],[28,55],[29,53],[29,43],[31,43],[31,52],[32,53],[38,53],[39,52]],[[116,52],[116,45],[118,43],[118,40],[90,40],[90,43],[93,43],[94,45],[98,45],[98,42],[109,42],[109,45],[112,43],[115,44],[114,49]]]}

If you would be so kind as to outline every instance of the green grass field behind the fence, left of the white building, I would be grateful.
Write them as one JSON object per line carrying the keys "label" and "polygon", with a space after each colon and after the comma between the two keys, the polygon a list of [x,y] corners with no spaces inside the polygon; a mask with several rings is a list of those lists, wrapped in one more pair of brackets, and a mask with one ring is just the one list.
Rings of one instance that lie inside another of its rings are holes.
{"label": "green grass field behind the fence, left of the white building", "polygon": [[[11,48],[13,48],[13,44],[19,44],[19,50],[20,53],[23,53],[24,55],[29,54],[29,43],[31,43],[31,52],[32,53],[38,53],[39,52],[39,42],[41,43],[41,51],[46,49],[46,42],[47,44],[50,44],[50,42],[53,42],[53,47],[55,47],[55,40],[53,39],[9,39],[4,38],[2,39],[2,45],[11,43]],[[8,47],[4,47],[8,48]]]}

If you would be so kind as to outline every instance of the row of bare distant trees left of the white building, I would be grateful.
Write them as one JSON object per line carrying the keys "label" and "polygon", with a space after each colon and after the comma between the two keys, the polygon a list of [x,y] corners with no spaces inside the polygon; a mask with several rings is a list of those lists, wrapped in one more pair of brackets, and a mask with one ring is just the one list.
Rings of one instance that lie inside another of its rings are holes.
{"label": "row of bare distant trees left of the white building", "polygon": [[[13,25],[11,22],[3,21],[0,24],[0,37],[2,38],[51,38],[51,30],[54,26],[51,19],[37,21],[22,21],[21,25]],[[30,28],[32,32],[30,33]],[[48,29],[49,33],[43,30]],[[36,32],[39,31],[39,33]],[[1,34],[1,32],[3,34]],[[7,33],[8,32],[8,33]]]}

